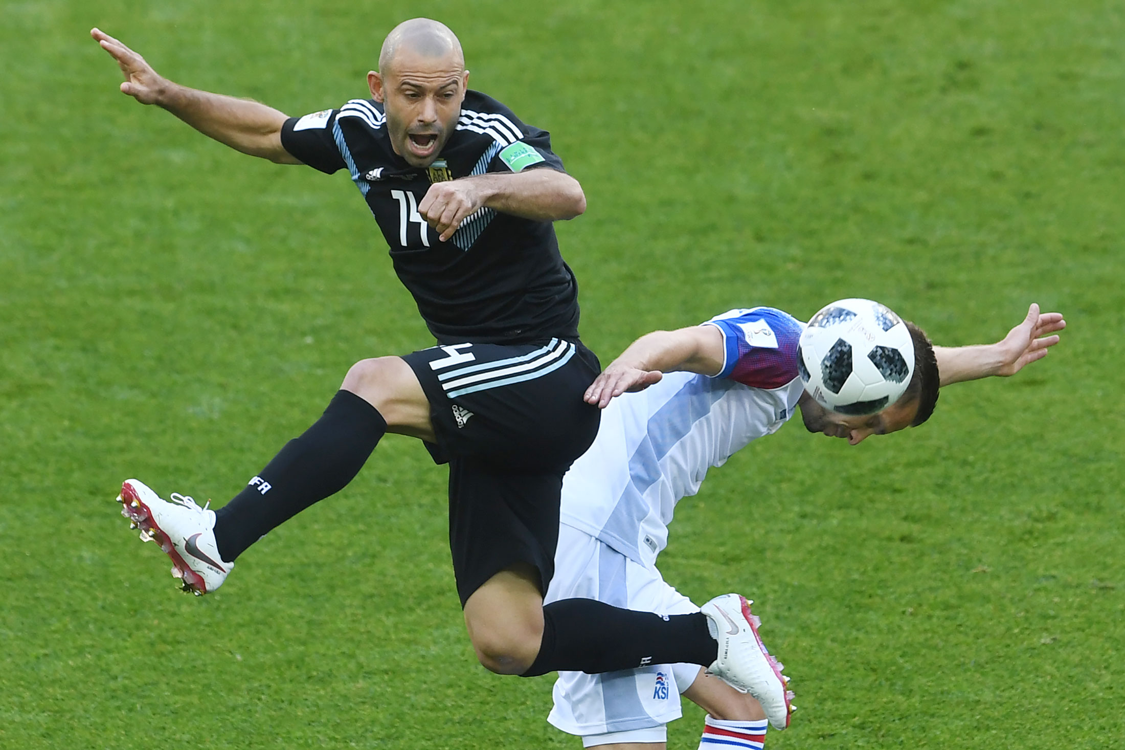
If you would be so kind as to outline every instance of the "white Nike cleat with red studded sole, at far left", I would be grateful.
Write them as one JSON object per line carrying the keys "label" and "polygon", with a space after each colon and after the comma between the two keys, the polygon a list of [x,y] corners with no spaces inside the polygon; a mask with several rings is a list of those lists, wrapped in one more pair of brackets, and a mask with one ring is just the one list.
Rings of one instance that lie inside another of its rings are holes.
{"label": "white Nike cleat with red studded sole, at far left", "polygon": [[207,509],[210,502],[200,508],[177,492],[169,502],[140,480],[125,480],[117,502],[129,527],[141,529],[141,541],[155,539],[172,559],[172,575],[183,581],[183,591],[199,597],[223,586],[234,563],[224,562],[218,554],[215,511]]}

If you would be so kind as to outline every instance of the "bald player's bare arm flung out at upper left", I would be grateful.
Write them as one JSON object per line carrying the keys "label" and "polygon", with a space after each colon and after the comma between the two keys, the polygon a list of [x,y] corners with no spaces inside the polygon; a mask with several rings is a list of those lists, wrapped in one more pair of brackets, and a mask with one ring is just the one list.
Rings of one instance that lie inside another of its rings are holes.
{"label": "bald player's bare arm flung out at upper left", "polygon": [[279,164],[299,164],[281,146],[285,113],[250,99],[189,89],[156,73],[144,57],[100,29],[91,29],[101,48],[117,61],[125,75],[122,93],[141,104],[172,113],[204,135],[236,151]]}

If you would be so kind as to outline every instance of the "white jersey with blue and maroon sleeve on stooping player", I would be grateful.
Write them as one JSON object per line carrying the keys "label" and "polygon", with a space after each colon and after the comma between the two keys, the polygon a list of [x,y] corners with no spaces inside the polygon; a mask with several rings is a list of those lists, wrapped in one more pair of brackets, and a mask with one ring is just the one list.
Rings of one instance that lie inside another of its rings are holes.
{"label": "white jersey with blue and maroon sleeve on stooping player", "polygon": [[562,480],[561,523],[642,565],[667,546],[676,502],[699,491],[708,468],[785,423],[803,390],[796,350],[804,323],[754,307],[704,325],[723,334],[722,369],[667,373],[613,399],[594,444]]}

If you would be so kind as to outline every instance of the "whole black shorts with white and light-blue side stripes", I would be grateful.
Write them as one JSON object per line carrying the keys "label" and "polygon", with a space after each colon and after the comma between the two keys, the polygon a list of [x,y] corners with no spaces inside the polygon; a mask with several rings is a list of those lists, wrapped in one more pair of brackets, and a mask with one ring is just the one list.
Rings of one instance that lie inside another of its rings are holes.
{"label": "whole black shorts with white and light-blue side stripes", "polygon": [[449,546],[461,605],[518,562],[555,573],[562,475],[597,436],[583,401],[601,372],[577,341],[458,343],[404,357],[426,399],[438,463],[449,463]]}

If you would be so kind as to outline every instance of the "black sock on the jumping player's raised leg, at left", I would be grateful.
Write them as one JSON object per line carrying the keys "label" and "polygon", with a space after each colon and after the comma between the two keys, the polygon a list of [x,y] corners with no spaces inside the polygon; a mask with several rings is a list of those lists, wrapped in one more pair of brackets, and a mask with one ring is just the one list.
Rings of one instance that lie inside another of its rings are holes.
{"label": "black sock on the jumping player's raised leg, at left", "polygon": [[344,489],[386,431],[375,407],[338,391],[316,423],[215,511],[215,544],[223,560],[234,562],[274,526]]}

